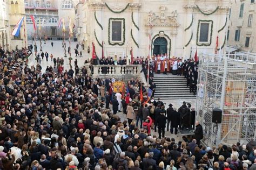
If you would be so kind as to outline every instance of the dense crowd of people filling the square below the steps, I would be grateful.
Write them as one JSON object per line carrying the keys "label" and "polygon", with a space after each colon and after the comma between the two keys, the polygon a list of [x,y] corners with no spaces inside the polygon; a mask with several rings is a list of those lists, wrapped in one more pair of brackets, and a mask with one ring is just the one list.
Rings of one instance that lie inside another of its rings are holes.
{"label": "dense crowd of people filling the square below the steps", "polygon": [[[253,139],[202,146],[203,128],[186,102],[166,109],[146,97],[138,79],[127,82],[126,94],[114,94],[117,80],[57,66],[42,70],[2,55],[0,169],[256,169]],[[177,134],[178,127],[195,128],[194,138],[165,136],[165,129]]]}

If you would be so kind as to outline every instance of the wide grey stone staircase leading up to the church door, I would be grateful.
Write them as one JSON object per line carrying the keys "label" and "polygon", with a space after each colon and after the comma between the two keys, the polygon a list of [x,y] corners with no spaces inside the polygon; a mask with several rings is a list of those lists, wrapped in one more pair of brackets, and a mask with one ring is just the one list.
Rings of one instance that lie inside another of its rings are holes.
{"label": "wide grey stone staircase leading up to the church door", "polygon": [[157,86],[154,93],[154,98],[156,99],[196,98],[196,96],[190,93],[190,88],[187,87],[187,80],[184,76],[154,74],[153,80]]}

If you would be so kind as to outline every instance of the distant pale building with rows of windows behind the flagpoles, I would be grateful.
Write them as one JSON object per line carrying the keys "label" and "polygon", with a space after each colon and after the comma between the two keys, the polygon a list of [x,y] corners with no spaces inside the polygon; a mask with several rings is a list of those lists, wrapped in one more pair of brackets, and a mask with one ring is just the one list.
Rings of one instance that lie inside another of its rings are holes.
{"label": "distant pale building with rows of windows behind the flagpoles", "polygon": [[[62,29],[58,29],[60,19],[64,19],[65,26],[69,26],[69,18],[71,23],[75,24],[75,6],[78,0],[25,0],[26,23],[28,27],[28,36],[32,37],[48,37],[49,39],[61,39]],[[33,30],[31,15],[37,24],[37,30]],[[40,24],[41,29],[38,29]],[[68,35],[68,29],[65,32]]]}

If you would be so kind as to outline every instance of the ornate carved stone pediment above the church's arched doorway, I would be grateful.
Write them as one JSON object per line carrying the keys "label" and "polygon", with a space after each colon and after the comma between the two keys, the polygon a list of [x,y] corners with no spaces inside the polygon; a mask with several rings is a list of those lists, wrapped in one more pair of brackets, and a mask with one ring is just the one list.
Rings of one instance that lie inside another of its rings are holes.
{"label": "ornate carved stone pediment above the church's arched doorway", "polygon": [[160,16],[157,16],[156,13],[150,11],[146,20],[147,26],[172,26],[179,27],[179,23],[177,21],[178,12],[172,11],[171,16],[166,16],[166,6],[161,5],[159,7]]}

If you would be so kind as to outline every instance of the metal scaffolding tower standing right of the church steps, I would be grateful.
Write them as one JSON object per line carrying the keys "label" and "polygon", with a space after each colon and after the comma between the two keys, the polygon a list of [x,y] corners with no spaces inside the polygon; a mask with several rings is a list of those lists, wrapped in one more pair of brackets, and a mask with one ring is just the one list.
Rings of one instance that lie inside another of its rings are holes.
{"label": "metal scaffolding tower standing right of the church steps", "polygon": [[[199,54],[197,121],[206,145],[243,144],[256,137],[256,58],[248,54]],[[222,122],[212,123],[212,110]]]}

